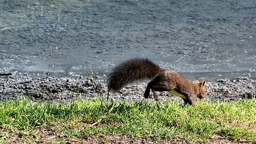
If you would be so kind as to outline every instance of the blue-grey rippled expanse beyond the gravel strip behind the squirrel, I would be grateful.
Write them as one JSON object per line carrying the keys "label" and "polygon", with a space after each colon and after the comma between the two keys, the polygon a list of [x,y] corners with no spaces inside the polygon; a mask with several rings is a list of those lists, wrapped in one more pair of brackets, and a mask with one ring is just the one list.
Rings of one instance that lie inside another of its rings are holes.
{"label": "blue-grey rippled expanse beyond the gravel strip behind the squirrel", "polygon": [[61,76],[133,57],[204,77],[256,69],[254,0],[0,0],[0,13],[1,71],[45,73],[50,51]]}

